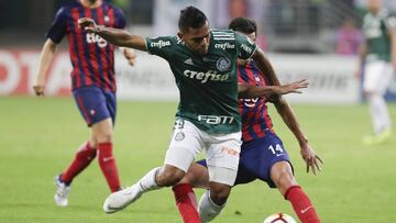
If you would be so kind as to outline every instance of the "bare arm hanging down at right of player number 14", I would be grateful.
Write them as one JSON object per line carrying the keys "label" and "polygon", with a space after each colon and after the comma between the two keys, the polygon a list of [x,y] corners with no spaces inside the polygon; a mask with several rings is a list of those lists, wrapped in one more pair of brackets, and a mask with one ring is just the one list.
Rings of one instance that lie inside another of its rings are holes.
{"label": "bare arm hanging down at right of player number 14", "polygon": [[[264,78],[268,80],[271,86],[280,86],[280,82],[275,75],[274,68],[260,48],[257,48],[253,54],[253,59],[262,74],[265,74]],[[314,175],[316,175],[317,171],[320,170],[319,163],[322,164],[322,160],[308,144],[308,138],[301,131],[292,107],[280,96],[273,99],[276,111],[279,113],[282,120],[293,132],[299,143],[301,157],[307,165],[307,172],[309,172],[309,169],[311,169]]]}

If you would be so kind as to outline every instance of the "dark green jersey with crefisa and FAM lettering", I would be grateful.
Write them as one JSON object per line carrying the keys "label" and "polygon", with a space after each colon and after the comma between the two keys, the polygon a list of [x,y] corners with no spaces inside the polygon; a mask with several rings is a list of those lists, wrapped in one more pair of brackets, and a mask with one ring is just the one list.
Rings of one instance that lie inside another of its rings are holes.
{"label": "dark green jersey with crefisa and FAM lettering", "polygon": [[254,42],[233,31],[211,30],[205,55],[193,53],[177,36],[146,38],[146,47],[170,66],[179,89],[178,119],[213,134],[241,130],[235,63],[253,55]]}

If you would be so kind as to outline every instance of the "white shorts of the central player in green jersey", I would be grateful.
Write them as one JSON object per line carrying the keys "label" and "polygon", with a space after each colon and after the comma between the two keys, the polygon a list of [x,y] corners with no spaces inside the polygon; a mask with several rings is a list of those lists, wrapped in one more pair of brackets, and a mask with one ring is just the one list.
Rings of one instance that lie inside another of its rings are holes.
{"label": "white shorts of the central player in green jersey", "polygon": [[189,166],[205,149],[209,181],[233,186],[241,150],[241,132],[208,134],[191,122],[177,120],[166,152],[165,164],[187,172]]}

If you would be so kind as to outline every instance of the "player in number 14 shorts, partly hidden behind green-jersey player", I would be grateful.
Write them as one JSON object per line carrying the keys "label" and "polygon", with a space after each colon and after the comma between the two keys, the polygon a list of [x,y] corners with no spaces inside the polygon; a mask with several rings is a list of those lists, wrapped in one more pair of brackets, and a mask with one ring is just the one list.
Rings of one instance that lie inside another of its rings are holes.
{"label": "player in number 14 shorts, partly hidden behind green-jersey player", "polygon": [[[255,41],[256,23],[250,19],[237,18],[231,21],[230,30],[241,32]],[[240,83],[267,86],[254,62],[238,60],[238,80]],[[282,140],[275,134],[268,115],[266,102],[270,98],[240,99],[239,111],[242,118],[242,147],[234,186],[249,183],[255,179],[265,181],[271,188],[277,188],[288,200],[302,223],[320,222],[308,196],[298,186],[288,154]],[[277,112],[294,133],[300,145],[300,154],[309,169],[316,175],[321,159],[304,137],[296,116],[286,112],[288,107],[283,99],[274,100]],[[209,176],[206,160],[191,165],[186,177],[173,187],[176,205],[185,223],[200,223],[197,212],[197,199],[193,187],[208,189]],[[200,211],[200,210],[199,210]],[[218,214],[213,212],[213,216]],[[206,222],[206,221],[202,221]]]}

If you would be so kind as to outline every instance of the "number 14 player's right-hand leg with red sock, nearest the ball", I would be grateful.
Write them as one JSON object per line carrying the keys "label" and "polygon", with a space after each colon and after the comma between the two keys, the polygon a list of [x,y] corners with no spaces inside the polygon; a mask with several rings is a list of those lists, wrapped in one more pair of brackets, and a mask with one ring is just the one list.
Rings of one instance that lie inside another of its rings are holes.
{"label": "number 14 player's right-hand leg with red sock, nearest the ball", "polygon": [[320,223],[314,204],[297,185],[288,161],[275,163],[271,168],[271,178],[285,199],[292,203],[294,211],[302,223]]}

